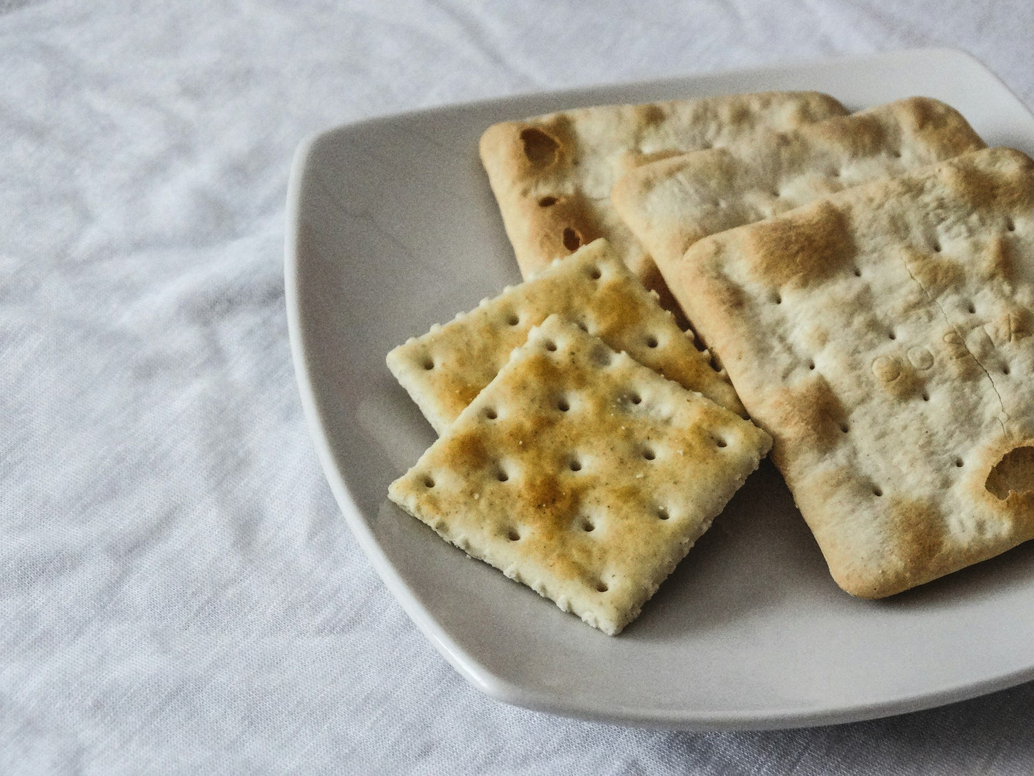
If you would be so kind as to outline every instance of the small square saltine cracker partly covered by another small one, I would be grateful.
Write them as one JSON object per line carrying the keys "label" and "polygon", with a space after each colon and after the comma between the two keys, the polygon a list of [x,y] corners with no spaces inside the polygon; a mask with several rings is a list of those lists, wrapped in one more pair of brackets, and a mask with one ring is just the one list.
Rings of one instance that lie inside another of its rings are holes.
{"label": "small square saltine cracker partly covered by another small one", "polygon": [[536,277],[483,300],[388,354],[388,367],[442,434],[478,395],[527,332],[554,312],[614,350],[733,412],[743,408],[725,372],[694,346],[614,256],[606,240],[580,248]]}

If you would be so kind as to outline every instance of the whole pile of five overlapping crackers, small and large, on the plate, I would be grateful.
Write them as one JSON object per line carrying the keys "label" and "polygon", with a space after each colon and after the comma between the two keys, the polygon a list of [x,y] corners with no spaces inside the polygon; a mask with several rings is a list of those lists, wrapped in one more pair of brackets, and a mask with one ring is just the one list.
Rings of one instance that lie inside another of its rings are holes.
{"label": "whole pile of five overlapping crackers, small and large, on the plate", "polygon": [[506,122],[481,157],[525,281],[388,355],[439,435],[389,496],[445,539],[616,634],[769,448],[853,595],[1034,537],[1026,155],[798,92]]}

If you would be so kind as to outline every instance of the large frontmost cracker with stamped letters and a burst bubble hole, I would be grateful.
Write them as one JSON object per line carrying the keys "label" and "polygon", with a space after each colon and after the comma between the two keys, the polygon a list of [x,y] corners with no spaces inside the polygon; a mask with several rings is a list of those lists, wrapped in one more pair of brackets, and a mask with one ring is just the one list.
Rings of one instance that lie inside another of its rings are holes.
{"label": "large frontmost cracker with stamped letters and a burst bubble hole", "polygon": [[695,243],[673,282],[840,586],[1034,537],[1034,162],[1004,148]]}

